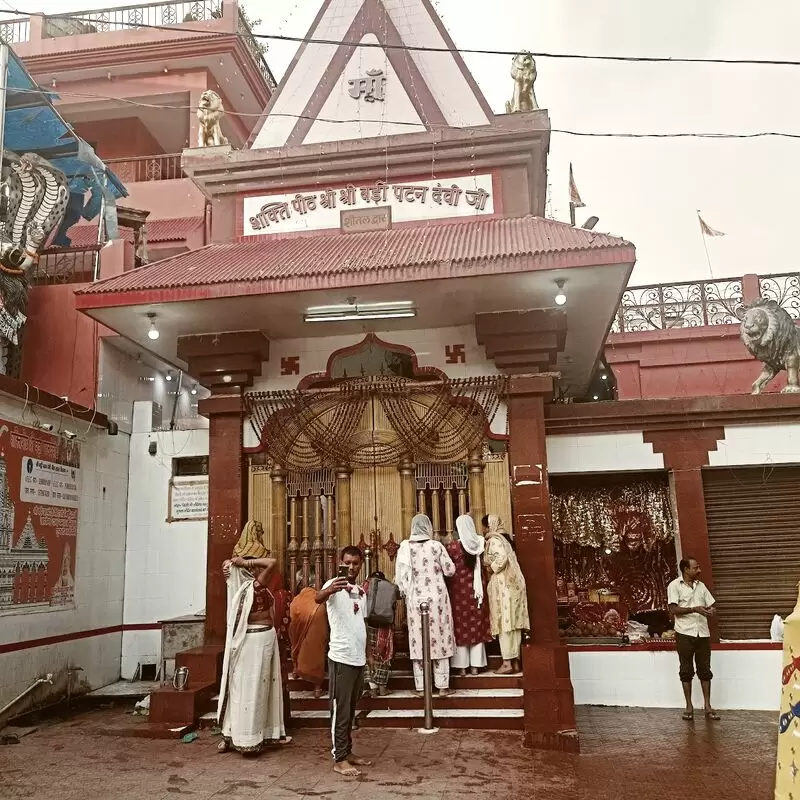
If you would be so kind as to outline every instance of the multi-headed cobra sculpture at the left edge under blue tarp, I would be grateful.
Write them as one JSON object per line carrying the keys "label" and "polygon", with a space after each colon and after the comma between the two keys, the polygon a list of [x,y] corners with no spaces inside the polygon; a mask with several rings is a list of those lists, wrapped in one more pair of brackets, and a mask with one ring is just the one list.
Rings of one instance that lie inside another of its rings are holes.
{"label": "multi-headed cobra sculpture at the left edge under blue tarp", "polygon": [[35,153],[3,150],[0,191],[0,338],[18,344],[27,319],[29,270],[64,219],[69,183]]}

